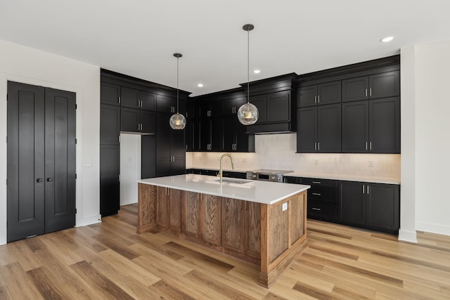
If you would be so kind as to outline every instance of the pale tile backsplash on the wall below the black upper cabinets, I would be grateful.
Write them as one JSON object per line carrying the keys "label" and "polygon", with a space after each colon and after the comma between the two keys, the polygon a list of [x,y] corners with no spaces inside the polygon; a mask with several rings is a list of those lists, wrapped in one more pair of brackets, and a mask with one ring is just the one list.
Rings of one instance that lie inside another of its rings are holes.
{"label": "pale tile backsplash on the wall below the black upper cabinets", "polygon": [[[394,178],[400,181],[401,155],[295,153],[297,133],[255,136],[255,153],[231,153],[239,171],[290,170],[298,174]],[[222,152],[186,152],[186,169],[219,169]],[[231,169],[229,159],[224,169]]]}

